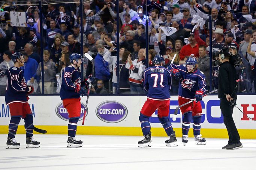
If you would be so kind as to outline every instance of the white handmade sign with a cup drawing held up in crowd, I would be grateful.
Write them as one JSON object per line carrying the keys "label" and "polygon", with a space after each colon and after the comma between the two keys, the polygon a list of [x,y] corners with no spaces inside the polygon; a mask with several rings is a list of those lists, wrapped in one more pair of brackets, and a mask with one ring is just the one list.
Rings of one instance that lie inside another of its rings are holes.
{"label": "white handmade sign with a cup drawing held up in crowd", "polygon": [[26,27],[26,12],[15,12],[11,13],[11,25],[15,27]]}

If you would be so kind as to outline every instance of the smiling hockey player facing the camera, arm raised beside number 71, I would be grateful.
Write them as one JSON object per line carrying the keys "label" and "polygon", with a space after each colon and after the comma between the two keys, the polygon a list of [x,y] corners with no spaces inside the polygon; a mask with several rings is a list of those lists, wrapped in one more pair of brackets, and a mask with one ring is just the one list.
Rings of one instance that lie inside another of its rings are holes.
{"label": "smiling hockey player facing the camera, arm raised beside number 71", "polygon": [[190,123],[193,120],[193,132],[197,145],[205,145],[206,140],[200,134],[202,106],[198,102],[202,100],[203,93],[207,90],[205,83],[205,75],[198,68],[196,59],[188,57],[183,65],[171,64],[170,70],[175,79],[179,80],[178,102],[179,106],[196,98],[193,103],[181,107],[183,114],[182,120],[182,142],[184,146],[188,142],[188,131]]}

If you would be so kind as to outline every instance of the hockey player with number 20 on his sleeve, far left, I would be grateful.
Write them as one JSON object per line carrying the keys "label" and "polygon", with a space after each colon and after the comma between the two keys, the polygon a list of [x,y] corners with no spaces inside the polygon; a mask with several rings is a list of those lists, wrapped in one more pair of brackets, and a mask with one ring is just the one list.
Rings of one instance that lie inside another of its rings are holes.
{"label": "hockey player with number 20 on his sleeve, far left", "polygon": [[6,71],[7,84],[5,93],[5,103],[9,105],[11,121],[6,149],[19,149],[20,143],[14,138],[18,130],[20,118],[24,119],[26,130],[26,148],[39,148],[40,142],[33,138],[33,116],[30,109],[28,94],[33,92],[33,88],[27,86],[20,67],[24,66],[24,56],[20,52],[15,52],[11,57],[14,66]]}

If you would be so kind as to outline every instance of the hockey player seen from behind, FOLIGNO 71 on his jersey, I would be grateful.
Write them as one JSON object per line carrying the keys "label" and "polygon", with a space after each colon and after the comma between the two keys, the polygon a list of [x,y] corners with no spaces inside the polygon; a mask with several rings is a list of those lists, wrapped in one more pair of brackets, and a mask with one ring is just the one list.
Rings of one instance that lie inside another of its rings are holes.
{"label": "hockey player seen from behind, FOLIGNO 71 on his jersey", "polygon": [[148,92],[147,101],[140,111],[140,125],[142,127],[145,139],[138,142],[138,147],[151,147],[151,127],[149,118],[157,109],[157,116],[164,127],[169,140],[166,140],[166,146],[177,146],[175,131],[169,121],[170,107],[170,89],[172,84],[172,75],[170,70],[163,67],[164,58],[161,55],[155,55],[153,60],[155,66],[149,67],[144,72],[144,89]]}

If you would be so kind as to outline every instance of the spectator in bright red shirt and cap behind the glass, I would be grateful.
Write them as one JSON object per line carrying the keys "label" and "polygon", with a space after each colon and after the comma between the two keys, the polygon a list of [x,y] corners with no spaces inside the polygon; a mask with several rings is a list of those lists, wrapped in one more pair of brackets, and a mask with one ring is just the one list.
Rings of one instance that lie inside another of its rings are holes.
{"label": "spectator in bright red shirt and cap behind the glass", "polygon": [[181,60],[184,60],[186,56],[190,56],[191,54],[194,54],[195,57],[199,57],[199,54],[198,54],[199,46],[196,43],[196,39],[194,38],[193,33],[190,34],[190,36],[188,37],[188,41],[189,41],[189,44],[184,45],[181,51],[179,52],[179,57],[181,58]]}

